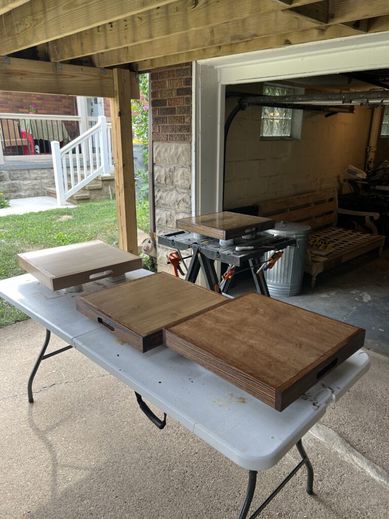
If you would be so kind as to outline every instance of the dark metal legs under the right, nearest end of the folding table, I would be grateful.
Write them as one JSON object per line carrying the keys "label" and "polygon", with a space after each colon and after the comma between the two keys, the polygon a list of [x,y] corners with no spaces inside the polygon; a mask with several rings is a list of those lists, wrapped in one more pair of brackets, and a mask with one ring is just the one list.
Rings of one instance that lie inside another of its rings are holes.
{"label": "dark metal legs under the right, nearest end of the folding table", "polygon": [[[277,486],[277,488],[270,494],[270,496],[265,501],[263,501],[261,506],[259,508],[257,508],[257,510],[252,515],[250,515],[248,519],[255,519],[255,517],[258,517],[258,515],[262,512],[262,510],[268,506],[270,501],[272,501],[272,499],[274,499],[274,497],[279,493],[279,491],[284,488],[286,483],[288,483],[288,481],[290,481],[292,479],[292,477],[301,469],[301,467],[303,465],[305,465],[307,467],[307,472],[308,472],[307,493],[309,495],[313,494],[312,463],[311,463],[310,459],[308,458],[307,453],[305,452],[305,449],[302,445],[301,440],[299,440],[296,443],[296,447],[297,447],[298,452],[300,453],[302,460],[300,461],[300,463],[298,463],[298,465],[296,465],[296,467],[291,472],[289,472],[289,474],[285,477],[284,481],[282,483],[280,483],[279,486]],[[251,503],[252,503],[253,497],[254,497],[256,482],[257,482],[257,472],[255,470],[250,470],[248,472],[248,484],[247,484],[246,496],[244,498],[243,505],[242,505],[241,511],[239,513],[238,519],[247,519],[247,517],[248,517],[248,511],[250,509],[250,506],[251,506]]]}

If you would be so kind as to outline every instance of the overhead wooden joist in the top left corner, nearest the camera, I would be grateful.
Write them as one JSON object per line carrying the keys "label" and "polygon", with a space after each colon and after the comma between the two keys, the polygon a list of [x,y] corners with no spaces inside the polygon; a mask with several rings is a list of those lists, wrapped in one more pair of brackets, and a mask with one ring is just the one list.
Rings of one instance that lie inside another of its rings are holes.
{"label": "overhead wooden joist in the top left corner, nearest the camera", "polygon": [[135,15],[175,0],[31,0],[0,23],[0,54],[10,54]]}

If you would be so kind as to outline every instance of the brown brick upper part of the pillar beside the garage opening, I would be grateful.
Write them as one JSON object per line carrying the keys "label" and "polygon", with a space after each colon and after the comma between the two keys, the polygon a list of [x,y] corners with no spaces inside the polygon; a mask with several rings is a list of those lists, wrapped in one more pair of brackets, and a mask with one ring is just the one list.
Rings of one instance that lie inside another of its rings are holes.
{"label": "brown brick upper part of the pillar beside the garage opening", "polygon": [[191,63],[151,71],[153,142],[191,141]]}

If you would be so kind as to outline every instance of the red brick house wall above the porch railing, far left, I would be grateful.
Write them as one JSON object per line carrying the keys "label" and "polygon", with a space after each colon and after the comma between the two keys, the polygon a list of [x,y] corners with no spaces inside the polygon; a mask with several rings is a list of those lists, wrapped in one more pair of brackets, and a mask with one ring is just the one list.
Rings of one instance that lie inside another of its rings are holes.
{"label": "red brick house wall above the porch railing, far left", "polygon": [[40,114],[77,115],[76,98],[72,95],[30,94],[0,90],[0,112],[28,114],[35,104]]}

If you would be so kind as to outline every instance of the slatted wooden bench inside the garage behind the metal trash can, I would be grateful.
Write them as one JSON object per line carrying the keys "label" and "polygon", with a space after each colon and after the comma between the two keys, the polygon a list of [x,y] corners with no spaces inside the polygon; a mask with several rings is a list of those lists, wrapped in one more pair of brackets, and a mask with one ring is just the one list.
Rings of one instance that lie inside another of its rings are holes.
{"label": "slatted wooden bench inside the garage behind the metal trash can", "polygon": [[[381,254],[385,243],[385,236],[377,234],[373,223],[379,214],[338,209],[336,189],[260,202],[258,207],[259,216],[274,218],[276,222],[288,220],[309,225],[312,227],[312,237],[332,243],[331,250],[325,255],[308,253],[304,271],[311,274],[312,287],[315,286],[316,276],[324,270],[374,249]],[[336,227],[338,213],[365,216],[366,226],[373,234]]]}

